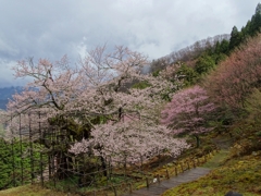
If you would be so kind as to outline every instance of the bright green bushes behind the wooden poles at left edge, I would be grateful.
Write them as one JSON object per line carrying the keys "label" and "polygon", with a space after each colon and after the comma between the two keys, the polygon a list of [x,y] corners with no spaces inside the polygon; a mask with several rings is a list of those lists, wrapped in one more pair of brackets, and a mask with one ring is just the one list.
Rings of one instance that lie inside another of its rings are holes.
{"label": "bright green bushes behind the wooden poles at left edge", "polygon": [[0,189],[29,183],[32,175],[37,177],[40,166],[34,166],[34,173],[32,173],[32,161],[40,160],[40,152],[37,151],[40,146],[37,144],[32,146],[33,157],[30,157],[28,142],[21,144],[18,140],[13,140],[11,144],[0,138]]}

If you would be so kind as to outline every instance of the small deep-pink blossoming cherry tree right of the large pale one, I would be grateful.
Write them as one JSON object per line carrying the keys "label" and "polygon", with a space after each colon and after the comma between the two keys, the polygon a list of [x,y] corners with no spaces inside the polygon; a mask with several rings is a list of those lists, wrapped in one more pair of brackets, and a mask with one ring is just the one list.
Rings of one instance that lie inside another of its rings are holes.
{"label": "small deep-pink blossoming cherry tree right of the large pale one", "polygon": [[161,123],[172,128],[174,134],[194,135],[199,147],[199,135],[213,130],[206,125],[207,117],[214,109],[215,106],[210,101],[207,91],[196,85],[173,96],[161,113]]}

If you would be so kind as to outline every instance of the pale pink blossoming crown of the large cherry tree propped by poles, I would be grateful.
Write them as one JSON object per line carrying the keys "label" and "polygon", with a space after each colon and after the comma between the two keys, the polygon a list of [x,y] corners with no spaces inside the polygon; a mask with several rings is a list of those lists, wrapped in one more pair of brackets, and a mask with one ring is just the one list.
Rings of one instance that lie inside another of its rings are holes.
{"label": "pale pink blossoming crown of the large cherry tree propped by poles", "polygon": [[[30,82],[10,100],[8,113],[13,121],[35,115],[36,127],[32,128],[38,128],[40,121],[42,127],[66,130],[74,154],[88,152],[91,146],[95,156],[110,156],[114,161],[135,162],[161,152],[177,156],[189,146],[159,125],[162,95],[176,87],[160,76],[140,74],[146,64],[146,57],[122,46],[112,52],[107,52],[105,46],[97,47],[75,68],[66,56],[57,62],[20,61],[14,68],[16,77],[30,77]],[[135,83],[147,87],[133,88]],[[38,118],[38,113],[44,114]],[[124,121],[133,113],[138,120]],[[21,121],[20,125],[26,125],[26,118]]]}

